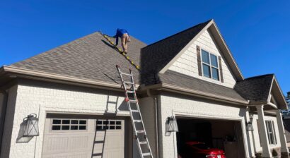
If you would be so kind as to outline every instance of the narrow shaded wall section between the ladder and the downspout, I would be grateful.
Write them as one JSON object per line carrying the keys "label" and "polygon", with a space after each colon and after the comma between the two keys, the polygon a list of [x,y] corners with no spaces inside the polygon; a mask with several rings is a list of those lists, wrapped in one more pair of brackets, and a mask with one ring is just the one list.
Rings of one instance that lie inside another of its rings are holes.
{"label": "narrow shaded wall section between the ladder and the downspout", "polygon": [[139,107],[144,121],[144,126],[152,150],[153,157],[157,157],[155,100],[152,97],[139,99]]}

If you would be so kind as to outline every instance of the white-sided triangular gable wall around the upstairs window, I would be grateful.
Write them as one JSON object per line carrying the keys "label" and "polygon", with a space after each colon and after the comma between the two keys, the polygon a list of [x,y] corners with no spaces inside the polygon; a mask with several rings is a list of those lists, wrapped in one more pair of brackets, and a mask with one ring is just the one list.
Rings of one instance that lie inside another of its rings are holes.
{"label": "white-sided triangular gable wall around the upstairs window", "polygon": [[[209,51],[212,54],[221,56],[221,65],[223,68],[224,83],[220,81],[213,80],[211,78],[199,76],[198,67],[197,67],[197,45]],[[211,38],[209,31],[205,31],[195,42],[180,56],[180,58],[170,66],[169,70],[183,73],[185,75],[190,75],[195,78],[202,80],[207,80],[211,83],[216,83],[219,85],[224,85],[226,87],[234,87],[236,84],[236,79],[233,77],[233,74],[230,71],[230,67],[227,65],[224,57],[221,55],[219,48],[216,47],[214,40]]]}

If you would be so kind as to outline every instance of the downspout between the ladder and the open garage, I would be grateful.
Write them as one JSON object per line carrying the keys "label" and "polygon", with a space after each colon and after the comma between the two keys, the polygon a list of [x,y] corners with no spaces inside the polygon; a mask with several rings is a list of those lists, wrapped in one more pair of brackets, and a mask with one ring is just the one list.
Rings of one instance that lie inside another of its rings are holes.
{"label": "downspout between the ladder and the open garage", "polygon": [[157,158],[160,157],[159,155],[159,140],[158,140],[158,135],[159,135],[159,129],[158,129],[158,99],[156,96],[153,96],[150,92],[150,89],[147,90],[147,95],[149,95],[149,97],[151,97],[153,100],[154,100],[154,112],[155,112],[155,128],[156,128],[156,131],[155,131],[155,140],[156,140],[156,155],[157,155]]}

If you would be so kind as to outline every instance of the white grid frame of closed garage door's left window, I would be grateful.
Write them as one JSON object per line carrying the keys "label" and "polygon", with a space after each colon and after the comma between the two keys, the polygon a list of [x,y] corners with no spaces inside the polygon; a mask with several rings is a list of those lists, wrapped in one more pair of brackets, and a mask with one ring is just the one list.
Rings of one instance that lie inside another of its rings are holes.
{"label": "white grid frame of closed garage door's left window", "polygon": [[[60,120],[59,124],[53,123],[54,120]],[[63,120],[69,120],[68,124],[63,123]],[[77,124],[73,124],[72,121],[78,121]],[[80,121],[86,121],[86,124],[80,124]],[[53,126],[60,126],[59,130],[52,129]],[[62,126],[69,126],[69,129],[62,129]],[[71,129],[71,126],[77,126],[77,129]],[[80,130],[80,126],[85,126],[86,129]],[[85,132],[88,130],[88,120],[87,119],[51,119],[50,121],[50,131],[52,132]]]}

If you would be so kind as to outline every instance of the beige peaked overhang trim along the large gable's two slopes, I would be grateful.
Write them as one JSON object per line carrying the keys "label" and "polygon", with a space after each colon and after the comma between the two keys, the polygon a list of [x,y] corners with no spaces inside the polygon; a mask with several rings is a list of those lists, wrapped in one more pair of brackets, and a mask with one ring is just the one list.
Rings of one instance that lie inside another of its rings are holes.
{"label": "beige peaked overhang trim along the large gable's two slopes", "polygon": [[161,69],[159,73],[165,73],[170,66],[173,65],[175,61],[179,59],[179,57],[195,42],[195,40],[202,35],[203,32],[206,30],[210,30],[211,34],[213,35],[216,44],[218,45],[220,51],[224,55],[224,58],[226,59],[228,65],[231,67],[231,71],[235,75],[236,79],[238,81],[244,80],[243,75],[240,71],[240,68],[238,68],[238,64],[236,63],[236,60],[233,58],[233,55],[231,54],[230,49],[228,48],[228,45],[226,44],[226,41],[224,40],[224,37],[222,37],[221,32],[219,31],[219,28],[217,28],[216,23],[214,20],[211,20],[164,68]]}

